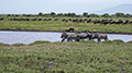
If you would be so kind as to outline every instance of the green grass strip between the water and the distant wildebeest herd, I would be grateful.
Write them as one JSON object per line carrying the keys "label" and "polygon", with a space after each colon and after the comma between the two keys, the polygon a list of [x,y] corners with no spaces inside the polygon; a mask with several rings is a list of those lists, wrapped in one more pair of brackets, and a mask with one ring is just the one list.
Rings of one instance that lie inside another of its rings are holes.
{"label": "green grass strip between the water and the distant wildebeest herd", "polygon": [[[13,16],[12,16],[13,17]],[[75,31],[84,32],[96,29],[97,32],[122,32],[132,33],[132,25],[127,24],[94,24],[94,23],[73,23],[73,22],[62,22],[63,19],[91,19],[91,20],[132,20],[125,17],[37,17],[37,19],[52,19],[52,21],[9,21],[12,17],[4,17],[0,21],[0,29],[18,29],[18,31],[66,31],[69,27],[74,27]],[[18,16],[18,19],[25,19],[24,16]],[[29,17],[34,19],[34,17]],[[58,19],[58,21],[54,21]]]}

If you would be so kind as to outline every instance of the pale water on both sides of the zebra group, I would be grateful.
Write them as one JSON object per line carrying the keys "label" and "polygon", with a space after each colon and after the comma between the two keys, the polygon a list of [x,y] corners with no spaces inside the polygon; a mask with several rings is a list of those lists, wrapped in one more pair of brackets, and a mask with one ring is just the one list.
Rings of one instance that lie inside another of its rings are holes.
{"label": "pale water on both sides of the zebra group", "polygon": [[[53,32],[9,32],[0,31],[0,42],[3,44],[32,44],[36,40],[61,41],[62,33]],[[132,35],[108,34],[109,40],[121,39],[124,42],[132,40]],[[103,41],[103,40],[102,40]]]}

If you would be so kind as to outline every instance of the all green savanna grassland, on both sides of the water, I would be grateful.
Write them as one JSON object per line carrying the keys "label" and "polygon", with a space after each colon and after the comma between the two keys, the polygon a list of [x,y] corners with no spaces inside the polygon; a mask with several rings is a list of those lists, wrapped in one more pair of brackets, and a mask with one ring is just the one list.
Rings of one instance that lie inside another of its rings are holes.
{"label": "all green savanna grassland, on both sides of the water", "polygon": [[[59,21],[9,21],[8,19],[0,21],[1,31],[62,32],[74,27],[78,32],[96,29],[97,32],[132,33],[131,24],[62,22],[64,17],[58,17]],[[121,20],[128,19],[121,17]],[[50,61],[53,59],[48,69]],[[0,73],[132,73],[132,41],[35,41],[30,45],[0,42]]]}

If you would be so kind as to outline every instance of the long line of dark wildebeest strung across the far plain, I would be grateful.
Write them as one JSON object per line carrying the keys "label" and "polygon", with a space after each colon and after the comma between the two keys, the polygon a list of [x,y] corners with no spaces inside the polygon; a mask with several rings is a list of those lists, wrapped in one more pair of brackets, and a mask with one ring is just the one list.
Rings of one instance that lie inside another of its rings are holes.
{"label": "long line of dark wildebeest strung across the far plain", "polygon": [[[0,21],[4,20],[3,17],[0,19]],[[59,19],[8,19],[9,21],[59,21]],[[132,21],[130,20],[91,20],[91,19],[63,19],[62,22],[74,22],[74,23],[94,23],[94,24],[132,24]]]}

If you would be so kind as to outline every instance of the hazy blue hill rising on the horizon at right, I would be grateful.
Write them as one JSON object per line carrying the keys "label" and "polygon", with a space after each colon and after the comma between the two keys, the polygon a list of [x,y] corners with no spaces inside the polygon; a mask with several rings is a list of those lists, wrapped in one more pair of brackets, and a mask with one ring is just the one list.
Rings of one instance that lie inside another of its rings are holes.
{"label": "hazy blue hill rising on the horizon at right", "polygon": [[100,11],[95,11],[92,13],[96,13],[96,14],[105,14],[105,13],[116,14],[118,12],[132,14],[132,4],[120,4],[120,5],[117,5],[113,8],[108,8],[108,9],[103,9]]}

